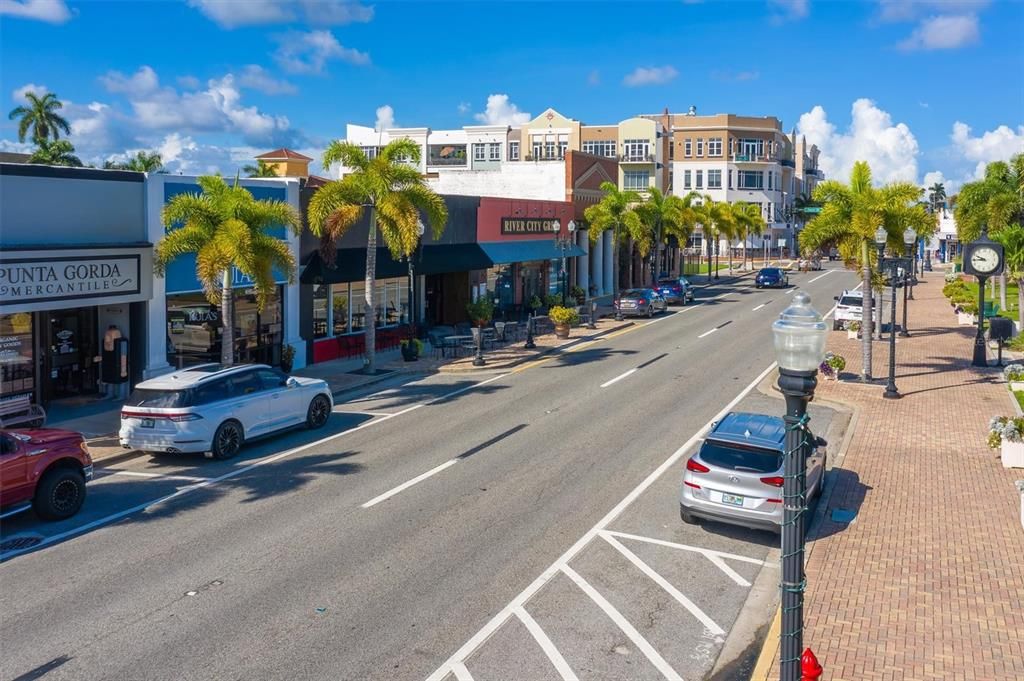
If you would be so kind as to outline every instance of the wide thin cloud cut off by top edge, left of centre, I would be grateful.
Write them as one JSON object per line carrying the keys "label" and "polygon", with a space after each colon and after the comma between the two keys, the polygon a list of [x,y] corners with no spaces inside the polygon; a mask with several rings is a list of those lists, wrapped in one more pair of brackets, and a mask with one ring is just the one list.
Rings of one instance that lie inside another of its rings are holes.
{"label": "wide thin cloud cut off by top edge, left of centre", "polygon": [[301,19],[318,26],[366,23],[374,8],[354,0],[188,0],[222,29],[260,24],[292,24]]}

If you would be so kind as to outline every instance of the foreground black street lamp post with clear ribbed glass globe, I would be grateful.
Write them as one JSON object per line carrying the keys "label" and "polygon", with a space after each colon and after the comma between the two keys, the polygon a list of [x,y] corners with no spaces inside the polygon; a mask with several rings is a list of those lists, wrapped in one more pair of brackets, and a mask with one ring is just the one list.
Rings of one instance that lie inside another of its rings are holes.
{"label": "foreground black street lamp post with clear ribbed glass globe", "polygon": [[782,477],[781,681],[800,680],[804,629],[804,544],[807,461],[811,442],[807,403],[814,396],[828,329],[803,291],[772,324],[778,387],[785,398],[785,461]]}

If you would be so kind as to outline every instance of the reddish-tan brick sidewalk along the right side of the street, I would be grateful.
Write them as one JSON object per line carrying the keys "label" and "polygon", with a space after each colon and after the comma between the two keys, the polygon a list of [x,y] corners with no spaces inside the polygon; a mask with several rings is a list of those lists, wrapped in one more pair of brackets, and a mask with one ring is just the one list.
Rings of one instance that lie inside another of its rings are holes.
{"label": "reddish-tan brick sidewalk along the right side of the street", "polygon": [[[942,283],[929,273],[914,291],[911,337],[896,349],[902,399],[818,384],[857,412],[807,563],[804,645],[829,681],[1024,679],[1024,470],[985,445],[989,418],[1014,406],[998,370],[970,366],[974,331],[956,326]],[[859,374],[859,341],[831,333],[828,347]],[[886,376],[888,343],[872,354],[872,375]],[[856,521],[833,521],[833,509]]]}

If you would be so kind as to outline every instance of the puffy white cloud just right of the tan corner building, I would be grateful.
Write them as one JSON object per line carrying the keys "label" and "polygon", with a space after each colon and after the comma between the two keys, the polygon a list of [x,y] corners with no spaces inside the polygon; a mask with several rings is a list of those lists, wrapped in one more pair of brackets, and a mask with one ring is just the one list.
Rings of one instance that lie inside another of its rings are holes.
{"label": "puffy white cloud just right of the tan corner building", "polygon": [[814,107],[802,115],[798,134],[821,150],[821,170],[829,178],[845,181],[856,161],[866,161],[877,183],[918,180],[918,140],[904,123],[893,125],[892,117],[870,99],[853,102],[850,127],[837,131],[824,109]]}

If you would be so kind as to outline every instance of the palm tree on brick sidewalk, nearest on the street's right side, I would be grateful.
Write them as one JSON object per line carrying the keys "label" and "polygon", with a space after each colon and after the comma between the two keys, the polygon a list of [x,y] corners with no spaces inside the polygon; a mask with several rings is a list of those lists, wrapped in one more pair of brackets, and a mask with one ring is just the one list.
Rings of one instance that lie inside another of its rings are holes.
{"label": "palm tree on brick sidewalk, nearest on the street's right side", "polygon": [[[871,265],[876,257],[873,247],[874,230],[884,226],[890,247],[900,252],[903,249],[903,227],[901,211],[921,197],[921,188],[909,182],[892,182],[881,188],[871,185],[871,169],[863,161],[853,164],[850,183],[825,180],[814,187],[814,200],[822,202],[817,214],[800,232],[801,249],[816,251],[825,246],[836,245],[846,262],[858,260],[861,267],[864,302],[861,308],[863,332],[861,333],[860,376],[863,381],[871,380],[871,331],[872,304]],[[881,315],[879,318],[881,323]]]}

